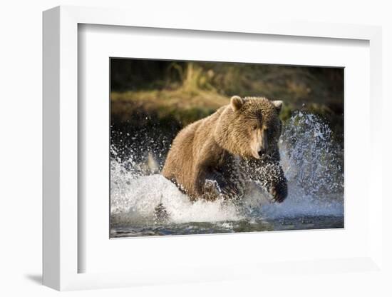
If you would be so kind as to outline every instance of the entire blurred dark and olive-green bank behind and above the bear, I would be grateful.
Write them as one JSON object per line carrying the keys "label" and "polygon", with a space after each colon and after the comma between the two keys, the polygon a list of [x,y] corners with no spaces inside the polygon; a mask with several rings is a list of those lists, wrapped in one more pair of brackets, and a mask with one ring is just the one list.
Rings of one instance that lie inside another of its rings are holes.
{"label": "entire blurred dark and olive-green bank behind and above the bear", "polygon": [[344,69],[110,59],[112,131],[155,131],[170,141],[233,95],[283,100],[282,121],[296,110],[318,114],[343,147]]}

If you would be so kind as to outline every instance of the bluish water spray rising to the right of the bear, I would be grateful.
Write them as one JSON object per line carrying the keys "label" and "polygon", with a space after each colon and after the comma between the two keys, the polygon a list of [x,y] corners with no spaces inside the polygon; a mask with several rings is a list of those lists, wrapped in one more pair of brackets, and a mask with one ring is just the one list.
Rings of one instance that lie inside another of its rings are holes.
{"label": "bluish water spray rising to the right of the bear", "polygon": [[262,216],[344,215],[343,148],[319,116],[296,112],[284,125],[280,153],[289,196],[282,204],[262,205],[257,194],[247,197]]}

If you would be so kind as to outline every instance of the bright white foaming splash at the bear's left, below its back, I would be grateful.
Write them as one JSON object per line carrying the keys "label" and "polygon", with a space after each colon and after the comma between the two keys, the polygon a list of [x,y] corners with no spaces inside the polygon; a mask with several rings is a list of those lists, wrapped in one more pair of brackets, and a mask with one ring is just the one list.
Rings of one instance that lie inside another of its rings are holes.
{"label": "bright white foaming splash at the bear's left, below its back", "polygon": [[237,221],[242,217],[223,201],[196,201],[160,174],[133,176],[115,162],[111,183],[111,214],[114,225],[157,223],[155,208],[162,203],[171,223]]}

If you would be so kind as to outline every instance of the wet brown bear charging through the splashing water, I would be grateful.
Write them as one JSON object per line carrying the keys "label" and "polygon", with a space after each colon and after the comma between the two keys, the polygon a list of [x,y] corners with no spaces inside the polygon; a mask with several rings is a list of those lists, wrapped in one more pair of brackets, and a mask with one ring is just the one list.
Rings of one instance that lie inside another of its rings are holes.
{"label": "wet brown bear charging through the splashing water", "polygon": [[192,201],[239,199],[256,181],[273,201],[287,197],[279,164],[282,101],[232,96],[230,104],[182,129],[170,148],[162,174]]}

